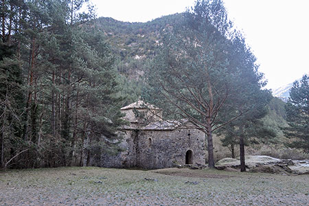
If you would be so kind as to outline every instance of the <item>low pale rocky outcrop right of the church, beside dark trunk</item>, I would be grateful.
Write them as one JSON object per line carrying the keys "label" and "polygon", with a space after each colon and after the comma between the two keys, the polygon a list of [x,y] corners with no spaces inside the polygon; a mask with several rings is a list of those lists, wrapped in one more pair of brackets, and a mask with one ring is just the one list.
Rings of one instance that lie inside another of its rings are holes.
{"label": "low pale rocky outcrop right of the church, beside dark trunk", "polygon": [[[246,156],[246,168],[249,172],[266,172],[275,174],[309,174],[309,161],[276,159],[264,155]],[[240,160],[225,158],[216,163],[219,170],[238,170]]]}

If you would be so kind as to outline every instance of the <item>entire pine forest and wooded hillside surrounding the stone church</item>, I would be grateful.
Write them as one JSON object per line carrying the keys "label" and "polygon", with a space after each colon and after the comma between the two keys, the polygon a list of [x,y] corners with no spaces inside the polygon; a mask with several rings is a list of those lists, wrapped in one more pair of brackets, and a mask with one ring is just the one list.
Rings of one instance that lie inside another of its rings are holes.
{"label": "entire pine forest and wooded hillside surrounding the stone church", "polygon": [[209,167],[213,133],[233,157],[240,146],[242,163],[250,144],[308,152],[308,76],[288,104],[273,98],[222,1],[147,23],[95,19],[80,11],[87,2],[1,1],[1,168],[83,166],[119,151],[119,108],[139,97],[203,131]]}

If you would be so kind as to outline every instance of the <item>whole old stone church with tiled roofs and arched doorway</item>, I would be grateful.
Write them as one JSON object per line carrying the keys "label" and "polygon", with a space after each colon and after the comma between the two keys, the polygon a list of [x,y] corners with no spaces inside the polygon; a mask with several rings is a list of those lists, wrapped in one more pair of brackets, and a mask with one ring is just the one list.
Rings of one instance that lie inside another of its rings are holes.
{"label": "whole old stone church with tiled roofs and arched doorway", "polygon": [[187,120],[162,120],[162,110],[141,100],[121,108],[129,124],[122,128],[122,152],[102,155],[108,168],[170,168],[205,164],[205,135]]}

